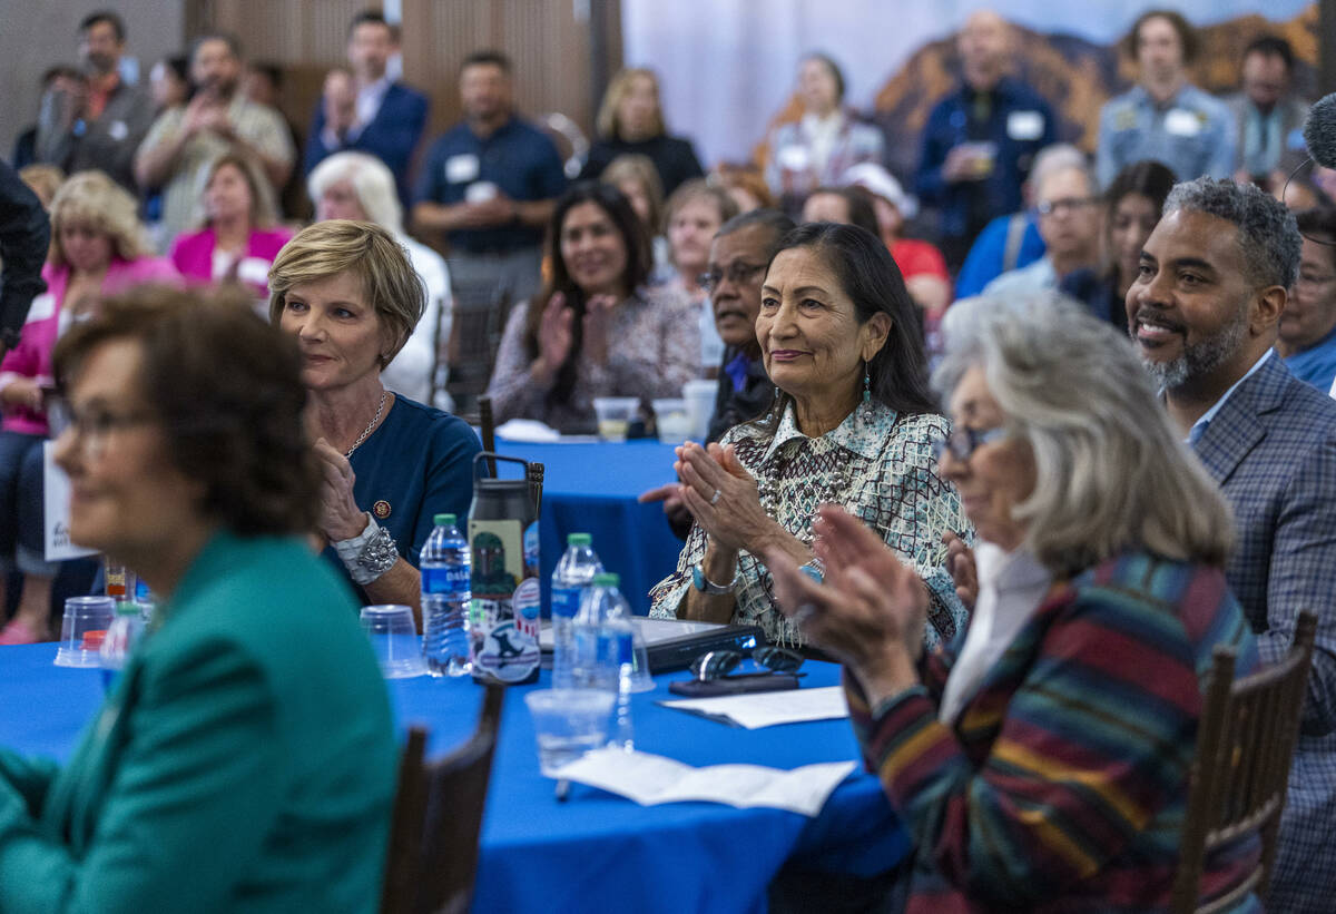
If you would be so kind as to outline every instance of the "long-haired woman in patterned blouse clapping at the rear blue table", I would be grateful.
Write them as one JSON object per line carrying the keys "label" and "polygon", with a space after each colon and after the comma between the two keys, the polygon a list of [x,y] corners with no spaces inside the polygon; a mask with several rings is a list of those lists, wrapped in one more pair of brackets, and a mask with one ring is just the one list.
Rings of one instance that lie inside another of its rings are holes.
{"label": "long-haired woman in patterned blouse clapping at the rear blue table", "polygon": [[595,397],[676,397],[700,375],[691,305],[644,286],[649,237],[621,191],[581,182],[548,228],[552,278],[506,322],[488,393],[497,421],[595,428]]}

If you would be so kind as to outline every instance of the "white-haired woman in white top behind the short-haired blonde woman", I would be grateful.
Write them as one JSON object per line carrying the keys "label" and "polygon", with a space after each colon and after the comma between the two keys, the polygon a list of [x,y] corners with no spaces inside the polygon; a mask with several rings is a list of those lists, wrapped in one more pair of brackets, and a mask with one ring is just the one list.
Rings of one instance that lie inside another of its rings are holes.
{"label": "white-haired woman in white top behind the short-haired blonde woman", "polygon": [[444,369],[453,323],[450,270],[445,258],[403,231],[403,208],[394,175],[383,162],[366,152],[335,152],[315,166],[306,186],[315,203],[317,220],[374,222],[407,251],[426,287],[426,310],[403,349],[382,371],[381,381],[410,400],[449,410]]}

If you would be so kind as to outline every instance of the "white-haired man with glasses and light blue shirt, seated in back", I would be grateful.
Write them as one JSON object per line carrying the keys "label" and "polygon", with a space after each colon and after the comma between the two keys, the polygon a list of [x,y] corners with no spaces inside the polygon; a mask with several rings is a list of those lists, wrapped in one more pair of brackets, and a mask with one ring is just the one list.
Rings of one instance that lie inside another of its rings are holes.
{"label": "white-haired man with glasses and light blue shirt, seated in back", "polygon": [[1100,196],[1085,156],[1070,146],[1050,147],[1041,156],[1034,211],[1045,254],[1029,266],[1003,273],[985,286],[985,295],[1057,289],[1063,277],[1100,262]]}

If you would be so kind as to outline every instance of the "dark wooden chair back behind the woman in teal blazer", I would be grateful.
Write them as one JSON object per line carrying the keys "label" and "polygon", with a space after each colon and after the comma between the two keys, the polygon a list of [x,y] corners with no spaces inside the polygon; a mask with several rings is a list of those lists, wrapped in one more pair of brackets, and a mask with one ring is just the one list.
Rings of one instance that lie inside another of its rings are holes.
{"label": "dark wooden chair back behind the woman in teal blazer", "polygon": [[505,688],[488,686],[473,736],[426,762],[426,731],[409,730],[390,824],[381,914],[465,914]]}

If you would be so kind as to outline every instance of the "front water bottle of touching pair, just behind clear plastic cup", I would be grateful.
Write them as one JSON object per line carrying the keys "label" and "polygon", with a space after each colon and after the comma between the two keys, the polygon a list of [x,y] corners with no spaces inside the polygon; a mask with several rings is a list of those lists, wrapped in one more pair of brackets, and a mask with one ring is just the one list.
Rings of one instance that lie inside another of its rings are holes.
{"label": "front water bottle of touching pair, just behind clear plastic cup", "polygon": [[632,747],[631,692],[635,669],[635,628],[631,607],[616,575],[600,573],[585,591],[574,621],[574,663],[570,677],[576,688],[599,688],[616,694],[611,743]]}

